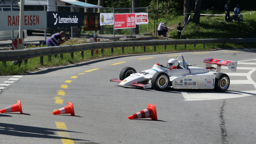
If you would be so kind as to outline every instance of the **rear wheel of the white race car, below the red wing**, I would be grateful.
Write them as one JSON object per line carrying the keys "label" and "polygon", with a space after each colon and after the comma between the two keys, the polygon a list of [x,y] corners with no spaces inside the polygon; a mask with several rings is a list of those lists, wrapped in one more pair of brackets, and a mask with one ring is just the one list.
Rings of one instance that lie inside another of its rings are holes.
{"label": "rear wheel of the white race car, below the red wing", "polygon": [[218,73],[215,76],[214,90],[217,92],[225,92],[228,90],[230,79],[227,74]]}

